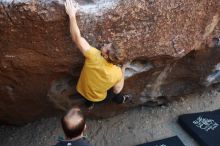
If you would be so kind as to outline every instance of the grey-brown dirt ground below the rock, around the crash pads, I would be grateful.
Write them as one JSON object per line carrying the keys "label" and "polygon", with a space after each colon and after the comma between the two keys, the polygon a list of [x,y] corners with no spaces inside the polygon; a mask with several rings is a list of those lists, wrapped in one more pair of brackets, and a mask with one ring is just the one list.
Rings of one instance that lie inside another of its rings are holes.
{"label": "grey-brown dirt ground below the rock, around the crash pads", "polygon": [[[113,118],[88,120],[86,136],[95,146],[133,146],[174,135],[178,135],[186,146],[199,146],[177,124],[178,115],[219,108],[219,91],[207,89],[166,106],[138,107]],[[59,136],[63,136],[60,116],[23,127],[0,126],[1,146],[53,145]]]}

